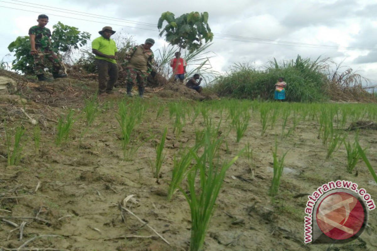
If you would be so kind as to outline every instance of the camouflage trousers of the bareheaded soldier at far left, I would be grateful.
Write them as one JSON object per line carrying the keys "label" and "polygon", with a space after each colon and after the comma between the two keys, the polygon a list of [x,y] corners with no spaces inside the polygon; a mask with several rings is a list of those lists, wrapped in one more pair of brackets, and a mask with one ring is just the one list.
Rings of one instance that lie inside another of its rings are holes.
{"label": "camouflage trousers of the bareheaded soldier at far left", "polygon": [[51,50],[42,51],[37,49],[38,54],[34,55],[34,72],[36,75],[43,74],[44,68],[47,68],[44,64],[45,60],[52,63],[52,73],[58,73],[61,68],[60,58]]}

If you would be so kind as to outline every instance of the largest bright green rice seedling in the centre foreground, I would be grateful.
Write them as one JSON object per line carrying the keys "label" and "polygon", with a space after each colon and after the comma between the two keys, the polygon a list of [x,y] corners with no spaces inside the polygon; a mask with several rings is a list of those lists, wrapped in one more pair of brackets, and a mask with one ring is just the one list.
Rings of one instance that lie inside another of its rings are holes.
{"label": "largest bright green rice seedling in the centre foreground", "polygon": [[[182,188],[191,211],[191,239],[190,250],[200,251],[203,248],[205,234],[207,232],[215,202],[219,195],[225,173],[238,159],[237,155],[231,161],[222,165],[216,161],[216,149],[222,142],[222,138],[212,139],[213,133],[207,128],[203,141],[203,154],[199,157],[194,154],[196,164],[187,175],[187,183],[190,191],[188,195]],[[196,176],[199,173],[199,189],[195,186]]]}

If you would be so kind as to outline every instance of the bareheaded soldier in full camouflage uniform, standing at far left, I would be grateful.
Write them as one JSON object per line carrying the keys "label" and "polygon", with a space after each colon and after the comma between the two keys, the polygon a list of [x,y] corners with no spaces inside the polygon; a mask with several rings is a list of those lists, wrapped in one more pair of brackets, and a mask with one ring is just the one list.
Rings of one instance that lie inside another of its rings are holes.
{"label": "bareheaded soldier in full camouflage uniform, standing at far left", "polygon": [[60,58],[51,50],[51,31],[46,28],[48,23],[48,16],[39,15],[38,25],[35,25],[29,29],[30,37],[30,54],[34,56],[34,72],[39,81],[48,80],[44,76],[44,60],[52,62],[52,76],[54,78],[66,78],[66,74],[59,74],[59,70],[62,67]]}

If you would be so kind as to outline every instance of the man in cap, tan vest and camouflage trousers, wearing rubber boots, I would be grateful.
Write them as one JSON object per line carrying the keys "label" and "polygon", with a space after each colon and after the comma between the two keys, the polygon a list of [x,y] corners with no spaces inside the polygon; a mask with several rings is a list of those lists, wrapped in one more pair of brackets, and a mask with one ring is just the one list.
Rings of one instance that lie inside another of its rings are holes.
{"label": "man in cap, tan vest and camouflage trousers, wearing rubber boots", "polygon": [[131,91],[134,84],[138,85],[139,96],[143,97],[144,88],[147,84],[147,77],[152,72],[154,55],[150,48],[155,40],[148,38],[144,44],[132,47],[126,53],[126,59],[122,63],[124,79],[127,82],[127,95],[132,96]]}

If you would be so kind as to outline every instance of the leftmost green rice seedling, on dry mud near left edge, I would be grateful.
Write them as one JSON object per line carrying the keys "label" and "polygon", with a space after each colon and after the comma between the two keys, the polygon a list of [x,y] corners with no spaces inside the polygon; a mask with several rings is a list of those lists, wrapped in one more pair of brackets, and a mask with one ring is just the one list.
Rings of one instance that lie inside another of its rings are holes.
{"label": "leftmost green rice seedling, on dry mud near left edge", "polygon": [[21,145],[21,138],[25,133],[25,129],[22,128],[21,126],[18,126],[15,129],[15,134],[14,134],[14,145],[12,147],[12,136],[8,129],[5,126],[5,140],[6,140],[6,148],[7,148],[7,164],[8,166],[14,166],[17,165],[18,162],[21,160],[21,155],[22,155],[22,148],[23,146]]}

